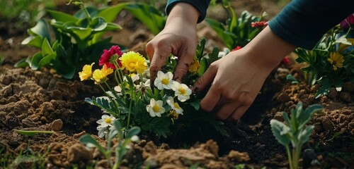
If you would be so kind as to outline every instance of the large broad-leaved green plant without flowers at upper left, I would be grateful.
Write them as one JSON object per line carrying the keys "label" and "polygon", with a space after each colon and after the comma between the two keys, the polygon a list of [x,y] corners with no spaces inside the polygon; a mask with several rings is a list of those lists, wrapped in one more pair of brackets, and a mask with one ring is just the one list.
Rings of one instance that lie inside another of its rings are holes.
{"label": "large broad-leaved green plant without flowers at upper left", "polygon": [[[47,66],[57,70],[59,75],[71,79],[82,65],[98,60],[101,49],[113,45],[110,37],[101,38],[105,32],[121,29],[120,25],[111,22],[127,4],[101,9],[86,7],[80,0],[75,0],[72,4],[80,6],[81,10],[74,15],[47,10],[53,19],[41,19],[35,27],[28,30],[30,37],[24,39],[22,44],[38,47],[42,51],[19,61],[16,67],[30,66],[33,70],[38,70]],[[50,36],[50,30],[55,39]]]}

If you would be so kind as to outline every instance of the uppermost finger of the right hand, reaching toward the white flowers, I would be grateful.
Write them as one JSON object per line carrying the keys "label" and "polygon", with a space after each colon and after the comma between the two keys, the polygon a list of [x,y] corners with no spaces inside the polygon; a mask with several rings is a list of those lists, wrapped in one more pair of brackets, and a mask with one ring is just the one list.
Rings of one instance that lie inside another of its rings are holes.
{"label": "uppermost finger of the right hand, reaching toward the white flowers", "polygon": [[[210,65],[210,67],[205,71],[205,73],[198,78],[198,80],[193,84],[192,92],[201,92],[205,88],[209,87],[212,81],[217,75],[217,66]],[[209,91],[210,92],[210,91]]]}

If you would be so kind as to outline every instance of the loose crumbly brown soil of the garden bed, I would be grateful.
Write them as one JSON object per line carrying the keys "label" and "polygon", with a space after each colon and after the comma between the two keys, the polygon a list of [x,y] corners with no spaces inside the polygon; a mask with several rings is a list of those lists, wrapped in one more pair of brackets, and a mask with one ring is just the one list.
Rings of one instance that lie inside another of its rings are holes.
{"label": "loose crumbly brown soil of the garden bed", "polygon": [[[237,2],[238,6],[249,5],[249,11],[265,8],[261,3],[256,4],[257,1],[249,4],[247,1]],[[149,31],[131,15],[120,15],[117,23],[123,26],[123,30],[108,36],[113,36],[114,42],[144,54],[145,44],[153,37]],[[207,37],[211,44],[221,46],[209,27],[201,24],[198,29],[200,37]],[[81,135],[90,133],[104,144],[104,140],[96,136],[96,120],[101,117],[101,111],[84,102],[85,97],[100,96],[100,90],[93,84],[79,82],[78,77],[65,80],[47,68],[13,68],[16,61],[35,54],[37,50],[21,46],[26,36],[20,34],[8,38],[1,35],[0,38],[0,54],[5,56],[0,67],[0,161],[6,163],[7,158],[24,154],[30,148],[45,154],[42,161],[13,161],[7,164],[9,168],[28,168],[33,163],[42,163],[43,168],[73,168],[75,165],[79,168],[95,165],[96,168],[106,168],[103,156],[96,149],[86,149],[78,140]],[[181,142],[164,143],[146,137],[132,145],[123,165],[127,168],[135,165],[190,168],[197,163],[202,168],[234,168],[246,163],[248,168],[287,168],[285,149],[273,137],[269,122],[273,118],[282,120],[282,111],[289,112],[302,101],[304,106],[321,104],[325,107],[312,119],[315,130],[304,146],[304,149],[314,149],[315,157],[321,163],[312,168],[352,168],[354,84],[346,83],[341,92],[331,89],[328,96],[314,99],[316,86],[291,84],[285,80],[288,73],[301,79],[296,67],[281,65],[274,70],[244,118],[239,123],[226,123],[232,131],[231,137],[204,138],[189,148],[183,148]],[[29,137],[14,132],[14,129],[52,130],[56,133]],[[185,142],[190,144],[188,140]]]}

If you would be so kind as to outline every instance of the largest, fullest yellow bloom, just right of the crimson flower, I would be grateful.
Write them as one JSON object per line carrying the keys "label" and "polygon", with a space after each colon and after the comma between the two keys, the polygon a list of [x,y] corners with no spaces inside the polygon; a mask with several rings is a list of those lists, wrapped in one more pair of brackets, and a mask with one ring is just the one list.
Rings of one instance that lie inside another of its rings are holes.
{"label": "largest, fullest yellow bloom, just right of the crimson flower", "polygon": [[126,68],[130,72],[144,73],[144,70],[147,69],[145,58],[137,52],[128,51],[122,54],[119,59],[122,63],[122,68]]}

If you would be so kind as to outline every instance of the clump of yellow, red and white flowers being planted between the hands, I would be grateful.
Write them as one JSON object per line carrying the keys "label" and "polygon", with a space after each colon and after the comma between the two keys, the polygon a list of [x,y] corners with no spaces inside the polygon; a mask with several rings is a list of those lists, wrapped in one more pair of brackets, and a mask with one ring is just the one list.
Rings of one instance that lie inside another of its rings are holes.
{"label": "clump of yellow, red and white flowers being planted between the hands", "polygon": [[[159,71],[154,82],[150,82],[146,58],[135,51],[123,53],[119,46],[103,51],[98,62],[101,69],[92,70],[94,63],[84,65],[79,72],[80,79],[93,80],[105,94],[86,98],[87,103],[98,106],[104,114],[97,122],[98,136],[107,138],[112,126],[109,124],[114,120],[119,120],[125,130],[138,126],[143,134],[158,137],[176,134],[178,127],[173,126],[202,120],[227,135],[221,122],[212,118],[212,115],[207,115],[210,113],[201,111],[199,102],[202,97],[192,94],[188,87],[202,75],[202,71],[206,70],[212,60],[218,58],[217,49],[208,57],[202,56],[204,45],[205,39],[198,45],[195,61],[183,80],[185,83],[173,80],[176,58],[171,57],[166,65],[166,72]],[[150,83],[155,87],[151,88]]]}

